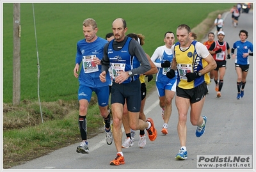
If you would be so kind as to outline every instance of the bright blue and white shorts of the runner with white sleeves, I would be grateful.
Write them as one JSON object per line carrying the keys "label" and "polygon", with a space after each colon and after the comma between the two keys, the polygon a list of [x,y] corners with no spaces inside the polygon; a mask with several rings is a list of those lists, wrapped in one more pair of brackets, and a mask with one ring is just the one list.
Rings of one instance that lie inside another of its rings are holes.
{"label": "bright blue and white shorts of the runner with white sleeves", "polygon": [[159,97],[165,95],[165,90],[176,91],[177,79],[170,79],[168,82],[156,82],[156,88]]}

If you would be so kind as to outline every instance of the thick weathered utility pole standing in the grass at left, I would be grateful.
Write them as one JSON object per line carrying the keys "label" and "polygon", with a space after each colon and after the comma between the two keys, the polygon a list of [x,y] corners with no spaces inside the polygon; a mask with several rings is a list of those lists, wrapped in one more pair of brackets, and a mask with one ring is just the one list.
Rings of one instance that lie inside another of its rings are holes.
{"label": "thick weathered utility pole standing in the grass at left", "polygon": [[20,104],[20,4],[13,4],[13,106]]}

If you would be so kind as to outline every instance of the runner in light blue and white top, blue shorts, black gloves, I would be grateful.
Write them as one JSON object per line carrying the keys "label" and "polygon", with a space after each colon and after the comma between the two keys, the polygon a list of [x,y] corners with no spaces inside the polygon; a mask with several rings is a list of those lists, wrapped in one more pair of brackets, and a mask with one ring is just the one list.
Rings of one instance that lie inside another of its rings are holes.
{"label": "runner in light blue and white top, blue shorts, black gloves", "polygon": [[172,63],[172,45],[175,42],[174,33],[168,31],[164,34],[165,45],[157,47],[151,56],[151,60],[157,66],[156,88],[159,97],[159,106],[162,108],[162,117],[164,120],[161,133],[168,134],[168,122],[172,114],[172,99],[176,91],[176,75],[172,79],[166,77]]}

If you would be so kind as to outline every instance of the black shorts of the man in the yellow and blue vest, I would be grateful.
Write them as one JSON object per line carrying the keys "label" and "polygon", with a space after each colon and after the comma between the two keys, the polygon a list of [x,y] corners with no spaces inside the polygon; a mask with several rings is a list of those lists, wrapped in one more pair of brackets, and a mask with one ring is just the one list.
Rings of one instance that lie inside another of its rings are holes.
{"label": "black shorts of the man in the yellow and blue vest", "polygon": [[179,86],[177,86],[177,89],[176,89],[176,95],[179,97],[188,98],[191,104],[202,100],[202,98],[205,97],[207,92],[208,92],[208,89],[205,82],[191,89],[183,89],[183,88],[179,88]]}

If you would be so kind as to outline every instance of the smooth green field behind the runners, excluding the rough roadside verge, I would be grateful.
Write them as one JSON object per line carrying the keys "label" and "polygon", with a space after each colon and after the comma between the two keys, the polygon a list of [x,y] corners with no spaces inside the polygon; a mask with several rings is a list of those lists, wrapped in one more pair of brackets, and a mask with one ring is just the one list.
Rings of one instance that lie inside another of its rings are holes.
{"label": "smooth green field behind the runners, excluding the rough roadside verge", "polygon": [[[232,5],[35,3],[40,100],[51,102],[77,98],[78,82],[73,69],[76,43],[83,39],[82,23],[86,18],[96,20],[98,36],[101,37],[111,32],[111,24],[115,18],[124,18],[127,21],[127,33],[145,35],[143,49],[151,56],[156,47],[163,45],[166,31],[175,32],[177,26],[183,23],[191,28],[196,27],[209,13],[230,9]],[[3,4],[3,19],[3,102],[10,103],[13,88],[13,4]],[[35,100],[38,98],[38,68],[31,3],[20,4],[20,24],[20,100]]]}

